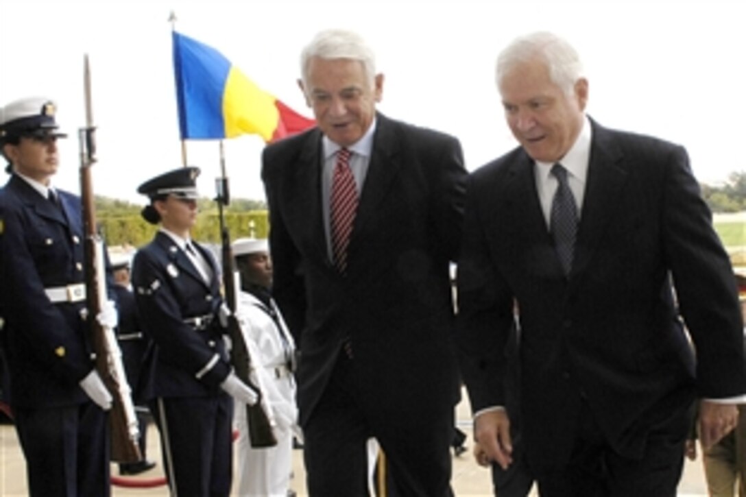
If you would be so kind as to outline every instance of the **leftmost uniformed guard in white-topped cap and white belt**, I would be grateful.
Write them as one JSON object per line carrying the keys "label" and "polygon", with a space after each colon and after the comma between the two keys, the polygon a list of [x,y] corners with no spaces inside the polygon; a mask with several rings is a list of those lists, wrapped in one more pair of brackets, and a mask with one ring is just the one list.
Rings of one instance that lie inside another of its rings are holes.
{"label": "leftmost uniformed guard in white-topped cap and white belt", "polygon": [[[93,369],[81,199],[56,189],[54,103],[0,107],[0,315],[10,407],[31,496],[108,496],[111,396]],[[97,316],[116,325],[109,302]]]}

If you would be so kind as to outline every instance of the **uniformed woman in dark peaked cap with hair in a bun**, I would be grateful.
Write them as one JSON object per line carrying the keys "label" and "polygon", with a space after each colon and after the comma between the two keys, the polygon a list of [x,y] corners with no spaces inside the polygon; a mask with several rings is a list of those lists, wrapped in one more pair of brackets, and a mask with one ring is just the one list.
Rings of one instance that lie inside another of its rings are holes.
{"label": "uniformed woman in dark peaked cap with hair in a bun", "polygon": [[143,331],[152,340],[143,395],[160,431],[172,495],[228,496],[231,396],[245,403],[257,396],[231,370],[219,268],[189,237],[198,174],[196,167],[183,167],[138,188],[150,199],[142,216],[160,229],[135,255],[132,283]]}

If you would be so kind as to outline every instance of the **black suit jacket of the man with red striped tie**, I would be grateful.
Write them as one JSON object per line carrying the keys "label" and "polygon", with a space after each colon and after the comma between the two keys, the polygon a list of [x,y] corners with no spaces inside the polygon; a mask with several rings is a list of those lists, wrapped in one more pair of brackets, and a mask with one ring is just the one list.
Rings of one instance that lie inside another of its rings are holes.
{"label": "black suit jacket of the man with red striped tie", "polygon": [[448,263],[460,243],[460,144],[377,115],[342,277],[327,256],[321,139],[315,128],[263,154],[274,294],[301,349],[301,422],[345,337],[377,415],[439,415],[433,411],[451,409],[457,398]]}

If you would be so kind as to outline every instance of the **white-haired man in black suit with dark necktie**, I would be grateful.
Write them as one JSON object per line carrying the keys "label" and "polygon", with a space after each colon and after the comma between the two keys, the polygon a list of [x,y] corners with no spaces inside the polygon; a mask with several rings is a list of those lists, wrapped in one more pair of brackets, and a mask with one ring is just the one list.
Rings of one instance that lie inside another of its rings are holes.
{"label": "white-haired man in black suit with dark necktie", "polygon": [[589,119],[581,70],[548,33],[498,58],[521,147],[467,189],[458,340],[475,436],[510,464],[517,301],[521,434],[542,496],[674,496],[692,401],[711,445],[746,393],[733,273],[686,151]]}

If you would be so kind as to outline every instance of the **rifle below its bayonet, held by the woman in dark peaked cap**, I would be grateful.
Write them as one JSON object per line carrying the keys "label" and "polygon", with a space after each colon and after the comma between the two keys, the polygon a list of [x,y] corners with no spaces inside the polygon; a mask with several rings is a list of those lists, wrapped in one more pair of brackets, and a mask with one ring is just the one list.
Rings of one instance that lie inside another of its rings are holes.
{"label": "rifle below its bayonet, held by the woman in dark peaked cap", "polygon": [[244,340],[241,326],[236,319],[236,280],[233,277],[233,250],[231,249],[231,234],[225,225],[223,205],[228,204],[228,178],[225,178],[225,164],[222,164],[223,178],[219,180],[218,213],[220,218],[220,238],[222,242],[222,266],[223,266],[223,290],[225,302],[231,310],[228,318],[228,334],[231,337],[231,363],[233,371],[241,381],[251,387],[259,394],[257,403],[246,404],[246,420],[248,422],[248,440],[254,448],[274,447],[278,441],[275,432],[272,431],[272,423],[269,421],[269,405],[259,388],[259,378],[251,366],[251,354]]}

